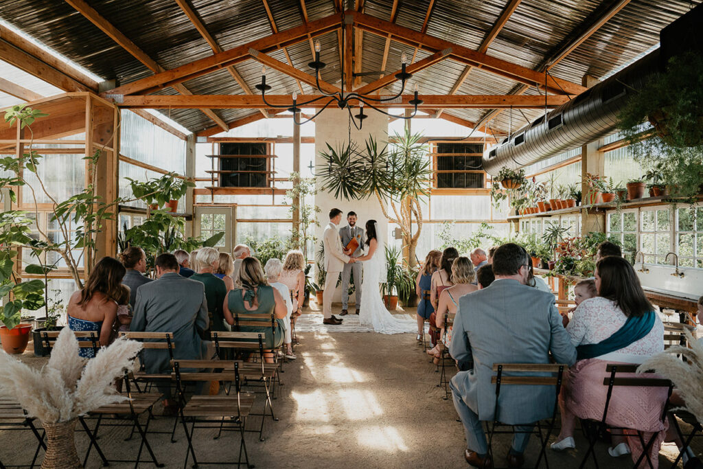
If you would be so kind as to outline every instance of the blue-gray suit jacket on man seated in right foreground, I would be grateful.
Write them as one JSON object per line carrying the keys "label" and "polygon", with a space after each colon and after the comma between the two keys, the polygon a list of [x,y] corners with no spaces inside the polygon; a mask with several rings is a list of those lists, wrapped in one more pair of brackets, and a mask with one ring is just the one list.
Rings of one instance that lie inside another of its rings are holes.
{"label": "blue-gray suit jacket on man seated in right foreground", "polygon": [[[546,364],[549,352],[557,363],[571,366],[576,361],[554,295],[506,279],[461,297],[449,352],[461,369],[473,361],[473,369],[460,371],[453,381],[480,420],[494,418],[494,363]],[[512,425],[533,423],[551,416],[554,404],[554,387],[503,385],[498,419]]]}

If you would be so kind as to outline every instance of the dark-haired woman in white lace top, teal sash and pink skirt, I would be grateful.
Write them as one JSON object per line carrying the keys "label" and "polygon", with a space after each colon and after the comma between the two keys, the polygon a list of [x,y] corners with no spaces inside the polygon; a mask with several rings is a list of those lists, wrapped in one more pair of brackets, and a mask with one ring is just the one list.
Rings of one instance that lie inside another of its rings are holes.
{"label": "dark-haired woman in white lace top, teal sash and pink skirt", "polygon": [[[567,326],[579,361],[569,369],[560,394],[562,430],[552,444],[557,451],[576,446],[576,418],[602,418],[607,392],[602,381],[607,364],[641,364],[652,354],[664,351],[664,324],[645,297],[629,262],[617,256],[600,259],[595,268],[595,288],[598,297],[583,300]],[[659,432],[650,453],[654,468],[664,440],[661,416],[666,394],[667,390],[659,387],[628,387],[626,392],[614,392],[608,406],[608,425]],[[614,436],[610,455],[631,452],[633,461],[637,461],[641,454],[638,440],[628,438],[629,444],[620,441]]]}

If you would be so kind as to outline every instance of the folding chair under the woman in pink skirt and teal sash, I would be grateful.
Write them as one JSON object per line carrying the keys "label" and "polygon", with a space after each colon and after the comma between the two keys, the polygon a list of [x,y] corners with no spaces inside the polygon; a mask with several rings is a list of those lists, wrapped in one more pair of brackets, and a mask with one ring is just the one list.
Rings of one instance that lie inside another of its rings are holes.
{"label": "folding chair under the woman in pink skirt and teal sash", "polygon": [[[600,420],[601,425],[607,425],[605,423],[605,420],[607,418],[608,414],[608,407],[610,406],[610,400],[612,398],[612,393],[613,393],[613,388],[614,387],[666,387],[668,390],[668,394],[666,396],[666,401],[664,402],[664,411],[662,412],[662,421],[666,418],[666,413],[669,411],[669,398],[671,397],[671,392],[673,390],[673,383],[669,380],[665,380],[663,378],[651,378],[647,377],[646,375],[638,375],[638,376],[632,376],[632,377],[627,377],[627,378],[617,378],[617,373],[636,373],[638,368],[638,365],[623,365],[623,364],[607,364],[605,367],[605,371],[607,373],[610,373],[610,377],[605,377],[603,378],[603,385],[608,387],[607,394],[605,397],[605,408],[603,409],[603,416]],[[612,425],[608,425],[610,428],[613,428]],[[625,430],[625,429],[617,429],[616,430]],[[636,461],[635,465],[633,466],[634,468],[638,468],[640,463],[643,461],[643,458],[647,458],[647,463],[649,464],[650,468],[654,468],[652,465],[652,460],[649,455],[649,450],[652,447],[652,444],[654,443],[654,439],[657,438],[656,432],[652,434],[652,437],[649,439],[648,442],[645,442],[644,436],[643,436],[643,430],[639,430],[637,428],[632,428],[632,429],[627,429],[627,430],[636,430],[638,438],[640,439],[640,444],[642,444],[642,454],[640,454],[640,457]],[[588,456],[593,456],[593,462],[595,463],[595,467],[598,467],[598,460],[595,457],[595,443],[598,441],[598,435],[594,435],[593,432],[586,432],[586,437],[588,438],[588,451],[586,451],[586,454],[583,455],[583,461],[581,461],[581,465],[579,465],[579,469],[582,469],[584,465],[586,465],[586,461],[588,461]]]}

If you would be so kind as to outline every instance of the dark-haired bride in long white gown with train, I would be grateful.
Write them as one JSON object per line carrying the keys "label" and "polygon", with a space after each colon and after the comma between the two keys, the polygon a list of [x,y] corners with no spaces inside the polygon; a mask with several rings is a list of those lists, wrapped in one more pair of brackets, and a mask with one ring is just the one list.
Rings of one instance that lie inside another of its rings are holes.
{"label": "dark-haired bride in long white gown with train", "polygon": [[363,263],[363,282],[361,283],[361,311],[359,322],[373,327],[378,333],[399,334],[413,332],[417,329],[415,319],[396,319],[385,308],[378,291],[381,280],[383,262],[385,260],[383,242],[378,240],[376,232],[378,223],[375,220],[366,222],[366,245],[368,252],[365,256],[357,257]]}

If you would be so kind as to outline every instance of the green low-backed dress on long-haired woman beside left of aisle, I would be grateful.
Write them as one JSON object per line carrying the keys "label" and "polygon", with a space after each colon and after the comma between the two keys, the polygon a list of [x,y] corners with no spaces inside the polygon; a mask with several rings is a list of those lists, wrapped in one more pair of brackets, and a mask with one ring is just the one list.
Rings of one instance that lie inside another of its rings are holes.
{"label": "green low-backed dress on long-haired woman beside left of aisle", "polygon": [[[283,344],[283,319],[276,319],[278,326],[276,327],[275,333],[271,330],[271,314],[273,314],[273,309],[276,308],[276,301],[273,299],[273,287],[269,285],[259,285],[256,293],[257,300],[259,301],[259,307],[254,310],[246,309],[244,307],[242,290],[242,288],[235,288],[227,295],[227,307],[229,311],[232,313],[232,316],[235,314],[261,314],[262,326],[239,326],[238,328],[235,321],[232,325],[232,330],[240,332],[263,332],[266,334],[266,343],[264,344],[266,349],[280,347],[280,345]],[[258,320],[247,319],[247,321]]]}

